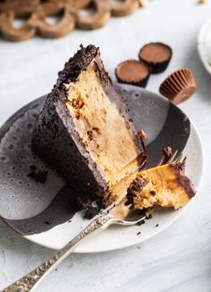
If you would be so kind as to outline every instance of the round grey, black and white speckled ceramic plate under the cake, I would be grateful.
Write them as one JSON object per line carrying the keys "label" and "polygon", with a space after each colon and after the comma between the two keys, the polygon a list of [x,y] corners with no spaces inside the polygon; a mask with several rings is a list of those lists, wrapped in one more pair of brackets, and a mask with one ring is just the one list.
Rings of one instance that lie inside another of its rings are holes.
{"label": "round grey, black and white speckled ceramic plate under the cake", "polygon": [[[156,165],[163,147],[183,150],[188,156],[187,175],[198,189],[202,149],[189,118],[179,107],[153,92],[128,85],[118,85],[118,89],[126,100],[136,129],[144,129],[147,133],[150,166]],[[37,169],[47,168],[31,153],[29,146],[32,125],[44,98],[20,109],[0,130],[0,215],[9,227],[25,238],[58,249],[90,221],[83,218],[82,211],[75,210],[71,195],[75,191],[54,171],[48,169],[45,184],[36,183],[27,176],[31,165],[36,165]],[[141,243],[178,219],[187,207],[157,211],[153,219],[139,227],[111,227],[79,245],[75,252],[104,252]],[[137,236],[138,231],[141,235]]]}

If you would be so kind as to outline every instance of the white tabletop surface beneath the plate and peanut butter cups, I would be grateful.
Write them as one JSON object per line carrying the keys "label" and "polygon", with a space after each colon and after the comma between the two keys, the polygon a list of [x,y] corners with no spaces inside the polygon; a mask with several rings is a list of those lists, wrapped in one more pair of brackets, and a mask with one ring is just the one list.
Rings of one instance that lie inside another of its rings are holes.
{"label": "white tabletop surface beneath the plate and peanut butter cups", "polygon": [[[198,92],[180,107],[198,127],[205,170],[198,197],[170,228],[142,245],[110,253],[73,254],[37,291],[211,291],[211,76],[197,52],[198,30],[211,13],[211,1],[153,0],[137,13],[113,19],[101,30],[75,31],[64,39],[0,40],[0,125],[13,112],[48,92],[57,71],[80,43],[101,47],[111,76],[119,61],[134,58],[148,41],[171,45],[168,70],[153,76],[147,89],[158,90],[173,70],[190,67]],[[105,243],[106,245],[106,243]],[[43,262],[52,251],[16,235],[0,222],[0,289]]]}

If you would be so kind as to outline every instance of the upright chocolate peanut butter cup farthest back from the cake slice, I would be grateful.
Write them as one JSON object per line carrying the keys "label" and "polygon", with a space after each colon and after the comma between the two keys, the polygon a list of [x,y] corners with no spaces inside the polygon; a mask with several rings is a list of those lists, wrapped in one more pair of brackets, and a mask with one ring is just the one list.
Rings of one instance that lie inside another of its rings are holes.
{"label": "upright chocolate peanut butter cup farthest back from the cake slice", "polygon": [[152,73],[162,73],[171,61],[172,49],[163,43],[149,43],[139,51],[139,60],[147,64]]}

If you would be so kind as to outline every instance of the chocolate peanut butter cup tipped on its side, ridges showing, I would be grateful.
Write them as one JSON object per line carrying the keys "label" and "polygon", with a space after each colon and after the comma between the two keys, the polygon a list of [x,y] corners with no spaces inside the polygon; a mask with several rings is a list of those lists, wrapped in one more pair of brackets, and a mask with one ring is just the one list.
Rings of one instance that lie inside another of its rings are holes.
{"label": "chocolate peanut butter cup tipped on its side, ridges showing", "polygon": [[189,99],[196,90],[197,84],[193,73],[188,68],[171,73],[159,88],[160,93],[175,104]]}

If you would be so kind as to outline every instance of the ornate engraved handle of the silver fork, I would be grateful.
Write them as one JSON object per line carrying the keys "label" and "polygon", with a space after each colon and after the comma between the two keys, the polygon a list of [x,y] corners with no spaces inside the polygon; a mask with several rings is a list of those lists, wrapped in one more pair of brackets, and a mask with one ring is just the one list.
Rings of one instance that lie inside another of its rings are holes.
{"label": "ornate engraved handle of the silver fork", "polygon": [[48,273],[54,270],[60,262],[65,260],[66,257],[74,251],[75,247],[84,241],[85,238],[108,228],[112,223],[114,223],[114,219],[110,216],[110,214],[93,220],[86,228],[84,228],[83,231],[75,236],[73,240],[48,259],[48,261],[40,264],[37,269],[15,281],[11,286],[4,288],[2,292],[34,291],[34,289],[40,284],[41,280],[44,279]]}

